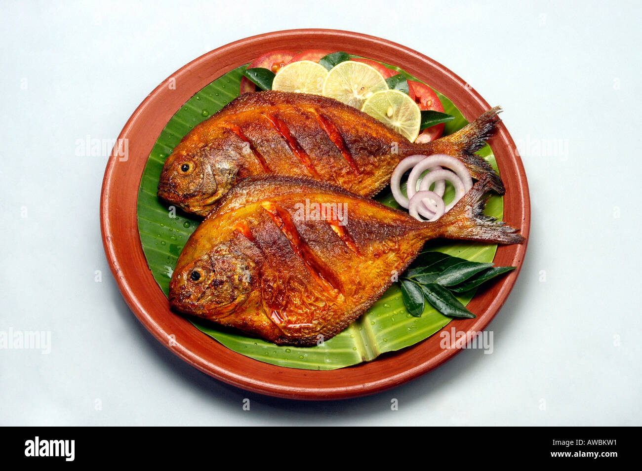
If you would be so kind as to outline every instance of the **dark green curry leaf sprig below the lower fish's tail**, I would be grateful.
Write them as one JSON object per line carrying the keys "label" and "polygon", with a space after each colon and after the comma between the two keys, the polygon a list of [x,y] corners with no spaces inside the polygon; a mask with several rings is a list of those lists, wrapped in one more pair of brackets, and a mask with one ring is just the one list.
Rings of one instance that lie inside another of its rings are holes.
{"label": "dark green curry leaf sprig below the lower fish's tail", "polygon": [[408,313],[421,317],[426,300],[449,317],[474,318],[453,293],[465,293],[514,266],[494,267],[492,263],[469,262],[441,252],[422,252],[413,268],[399,278],[401,297]]}

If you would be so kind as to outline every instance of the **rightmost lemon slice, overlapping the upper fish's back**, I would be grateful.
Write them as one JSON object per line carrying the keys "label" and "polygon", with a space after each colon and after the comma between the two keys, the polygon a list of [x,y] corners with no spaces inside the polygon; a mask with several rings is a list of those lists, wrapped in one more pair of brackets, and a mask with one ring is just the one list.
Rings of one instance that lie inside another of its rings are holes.
{"label": "rightmost lemon slice, overlapping the upper fish's back", "polygon": [[376,92],[363,103],[361,111],[379,119],[410,142],[415,142],[419,135],[421,111],[415,100],[404,92],[399,90]]}

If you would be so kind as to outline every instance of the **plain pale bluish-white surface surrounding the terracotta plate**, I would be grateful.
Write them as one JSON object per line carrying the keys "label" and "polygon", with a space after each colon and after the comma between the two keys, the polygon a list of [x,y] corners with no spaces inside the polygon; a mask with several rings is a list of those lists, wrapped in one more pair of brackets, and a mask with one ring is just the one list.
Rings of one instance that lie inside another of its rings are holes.
{"label": "plain pale bluish-white surface surrounding the terracotta plate", "polygon": [[[639,3],[2,9],[0,330],[50,331],[51,353],[0,350],[0,424],[642,425]],[[465,350],[371,397],[279,400],[183,363],[121,298],[98,218],[107,153],[78,156],[77,141],[115,139],[146,95],[197,56],[291,28],[412,47],[505,109],[532,227],[521,275],[489,326],[492,354]]]}

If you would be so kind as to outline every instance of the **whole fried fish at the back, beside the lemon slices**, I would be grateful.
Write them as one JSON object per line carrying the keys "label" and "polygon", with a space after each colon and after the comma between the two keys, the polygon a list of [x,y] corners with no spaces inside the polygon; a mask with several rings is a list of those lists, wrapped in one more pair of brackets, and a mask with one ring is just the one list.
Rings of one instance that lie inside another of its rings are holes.
{"label": "whole fried fish at the back, beside the lemon slices", "polygon": [[414,144],[377,119],[332,98],[288,92],[246,93],[187,133],[164,163],[159,197],[207,215],[213,203],[252,175],[307,176],[372,196],[395,166],[415,154],[459,158],[473,178],[501,179],[474,155],[499,121],[499,108],[459,132]]}

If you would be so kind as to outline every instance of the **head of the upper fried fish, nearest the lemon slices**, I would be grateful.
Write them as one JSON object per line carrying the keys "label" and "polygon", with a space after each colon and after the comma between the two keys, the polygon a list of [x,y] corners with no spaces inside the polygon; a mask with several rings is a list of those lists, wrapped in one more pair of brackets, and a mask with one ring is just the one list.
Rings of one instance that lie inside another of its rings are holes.
{"label": "head of the upper fried fish, nearest the lemon slices", "polygon": [[225,151],[174,151],[162,167],[158,196],[186,212],[206,216],[234,185],[238,164]]}

